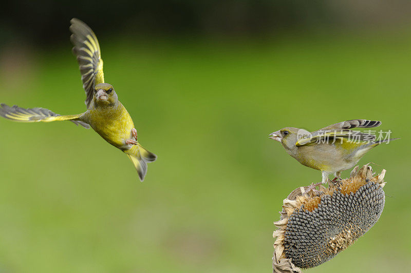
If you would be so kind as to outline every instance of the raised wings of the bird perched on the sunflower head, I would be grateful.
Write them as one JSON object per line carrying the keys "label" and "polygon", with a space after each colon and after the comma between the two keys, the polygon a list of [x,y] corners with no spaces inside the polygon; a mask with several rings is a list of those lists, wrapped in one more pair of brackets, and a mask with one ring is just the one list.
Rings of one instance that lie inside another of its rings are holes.
{"label": "raised wings of the bird perched on the sunflower head", "polygon": [[351,128],[372,128],[380,126],[380,121],[370,120],[350,120],[335,123],[324,127],[320,130],[314,131],[299,138],[295,146],[310,145],[312,143],[333,143],[338,139],[352,142],[374,141],[376,136],[369,133],[350,130]]}

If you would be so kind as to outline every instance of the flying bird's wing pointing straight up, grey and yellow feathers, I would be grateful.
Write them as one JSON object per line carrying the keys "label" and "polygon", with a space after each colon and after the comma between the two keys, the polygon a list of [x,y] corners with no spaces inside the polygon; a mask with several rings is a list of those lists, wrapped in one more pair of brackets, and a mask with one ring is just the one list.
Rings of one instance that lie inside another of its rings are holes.
{"label": "flying bird's wing pointing straight up, grey and yellow feathers", "polygon": [[94,87],[104,83],[103,60],[101,59],[100,45],[94,32],[84,22],[72,18],[70,26],[73,53],[79,62],[81,80],[86,92],[85,104],[90,106]]}

